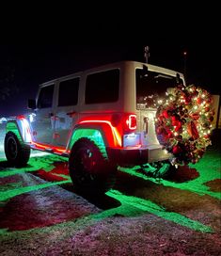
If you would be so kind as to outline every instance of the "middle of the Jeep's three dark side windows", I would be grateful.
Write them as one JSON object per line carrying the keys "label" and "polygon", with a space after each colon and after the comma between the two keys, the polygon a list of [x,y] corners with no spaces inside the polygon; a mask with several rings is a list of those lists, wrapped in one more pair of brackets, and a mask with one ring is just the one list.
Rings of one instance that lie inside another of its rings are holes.
{"label": "middle of the Jeep's three dark side windows", "polygon": [[79,77],[59,84],[58,106],[74,105],[78,101]]}

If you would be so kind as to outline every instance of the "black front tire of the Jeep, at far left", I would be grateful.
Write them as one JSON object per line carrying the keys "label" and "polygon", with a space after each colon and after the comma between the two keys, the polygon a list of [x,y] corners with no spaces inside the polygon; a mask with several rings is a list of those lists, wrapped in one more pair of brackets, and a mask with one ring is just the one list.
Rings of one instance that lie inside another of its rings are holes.
{"label": "black front tire of the Jeep, at far left", "polygon": [[5,137],[5,154],[10,165],[24,167],[29,160],[30,152],[30,147],[20,141],[14,133],[7,133]]}

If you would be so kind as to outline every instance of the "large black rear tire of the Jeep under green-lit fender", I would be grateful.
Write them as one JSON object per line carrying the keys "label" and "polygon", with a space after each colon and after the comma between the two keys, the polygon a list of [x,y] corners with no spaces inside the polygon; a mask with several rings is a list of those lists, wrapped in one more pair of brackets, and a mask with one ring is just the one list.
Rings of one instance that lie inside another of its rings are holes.
{"label": "large black rear tire of the Jeep under green-lit fender", "polygon": [[80,138],[71,149],[69,170],[78,193],[95,195],[113,187],[117,167],[108,161],[101,145],[91,139]]}

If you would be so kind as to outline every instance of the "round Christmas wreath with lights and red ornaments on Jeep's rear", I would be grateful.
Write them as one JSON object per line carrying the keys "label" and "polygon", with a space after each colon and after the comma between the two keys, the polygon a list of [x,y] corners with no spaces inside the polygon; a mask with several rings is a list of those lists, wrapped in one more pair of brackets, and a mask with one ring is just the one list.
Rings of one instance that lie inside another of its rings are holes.
{"label": "round Christmas wreath with lights and red ornaments on Jeep's rear", "polygon": [[166,93],[156,113],[156,135],[172,164],[197,163],[211,145],[213,97],[194,85],[179,85]]}

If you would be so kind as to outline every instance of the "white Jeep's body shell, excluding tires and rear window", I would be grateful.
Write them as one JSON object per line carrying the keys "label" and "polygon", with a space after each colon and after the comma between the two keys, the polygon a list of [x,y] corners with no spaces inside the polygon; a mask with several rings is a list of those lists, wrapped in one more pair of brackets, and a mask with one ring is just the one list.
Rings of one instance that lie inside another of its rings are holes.
{"label": "white Jeep's body shell, excluding tires and rear window", "polygon": [[8,125],[32,149],[45,152],[69,156],[79,138],[89,137],[102,141],[109,157],[120,164],[168,159],[155,134],[157,109],[137,107],[136,84],[145,69],[154,77],[179,75],[184,84],[182,73],[147,63],[103,65],[41,84],[35,109]]}

